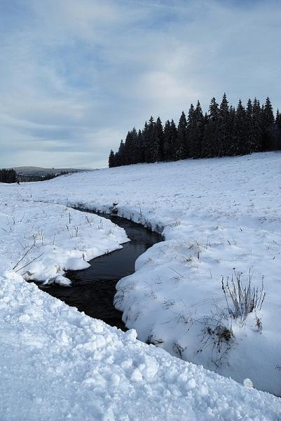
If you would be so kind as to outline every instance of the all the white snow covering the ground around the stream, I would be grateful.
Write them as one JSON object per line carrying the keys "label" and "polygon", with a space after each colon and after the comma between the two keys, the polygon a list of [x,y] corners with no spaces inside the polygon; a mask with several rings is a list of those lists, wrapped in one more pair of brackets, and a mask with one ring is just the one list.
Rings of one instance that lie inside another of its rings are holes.
{"label": "all the white snow covering the ground around the stream", "polygon": [[[280,159],[139,164],[0,185],[0,419],[280,420],[280,399],[257,390],[281,394]],[[67,269],[128,241],[109,220],[69,206],[114,206],[165,237],[118,283],[127,333],[24,280],[67,284]],[[263,278],[266,298],[245,324],[226,314],[221,276],[233,268],[243,284],[249,270],[254,286]],[[207,345],[203,336],[217,319],[233,331],[221,359],[215,335]]]}

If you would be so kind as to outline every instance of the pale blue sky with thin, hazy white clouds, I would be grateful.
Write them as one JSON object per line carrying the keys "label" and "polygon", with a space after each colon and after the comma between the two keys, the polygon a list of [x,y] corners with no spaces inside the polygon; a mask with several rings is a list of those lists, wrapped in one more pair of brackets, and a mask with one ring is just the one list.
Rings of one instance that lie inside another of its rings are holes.
{"label": "pale blue sky with thin, hazy white clouds", "polygon": [[280,0],[1,0],[0,167],[105,167],[224,92],[281,108],[280,39]]}

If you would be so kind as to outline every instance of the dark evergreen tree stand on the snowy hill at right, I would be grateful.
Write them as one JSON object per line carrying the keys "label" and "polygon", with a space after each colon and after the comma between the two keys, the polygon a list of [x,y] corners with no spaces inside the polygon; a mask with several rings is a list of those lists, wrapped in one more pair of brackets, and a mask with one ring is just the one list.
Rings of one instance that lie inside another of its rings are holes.
{"label": "dark evergreen tree stand on the snowy hill at right", "polygon": [[109,154],[109,167],[131,163],[177,161],[186,158],[235,156],[281,149],[281,114],[269,98],[261,105],[259,100],[248,100],[247,106],[239,100],[235,108],[228,105],[226,94],[219,105],[212,98],[205,115],[200,102],[191,104],[186,117],[181,113],[179,123],[153,117],[144,128],[129,131],[121,140],[118,152]]}

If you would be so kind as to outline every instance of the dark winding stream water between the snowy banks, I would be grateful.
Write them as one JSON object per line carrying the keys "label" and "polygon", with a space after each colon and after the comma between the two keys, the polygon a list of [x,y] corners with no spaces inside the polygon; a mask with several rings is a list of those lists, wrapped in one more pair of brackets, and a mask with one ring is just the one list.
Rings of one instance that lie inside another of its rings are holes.
{"label": "dark winding stream water between the snowy banks", "polygon": [[80,312],[126,330],[121,312],[113,305],[116,283],[124,276],[134,273],[135,260],[139,255],[153,244],[163,241],[163,237],[125,218],[106,214],[100,216],[124,228],[131,241],[123,244],[120,250],[90,260],[91,266],[88,269],[67,272],[65,276],[71,279],[70,287],[42,286],[40,283],[37,285],[53,297],[77,307]]}

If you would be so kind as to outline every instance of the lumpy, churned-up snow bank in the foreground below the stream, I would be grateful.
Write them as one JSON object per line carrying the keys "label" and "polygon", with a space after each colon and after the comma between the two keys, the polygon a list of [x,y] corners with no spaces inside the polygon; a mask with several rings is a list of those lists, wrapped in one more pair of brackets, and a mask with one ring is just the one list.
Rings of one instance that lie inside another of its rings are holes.
{"label": "lumpy, churned-up snow bank in the foreground below the stream", "polygon": [[281,400],[0,276],[1,421],[277,421]]}

